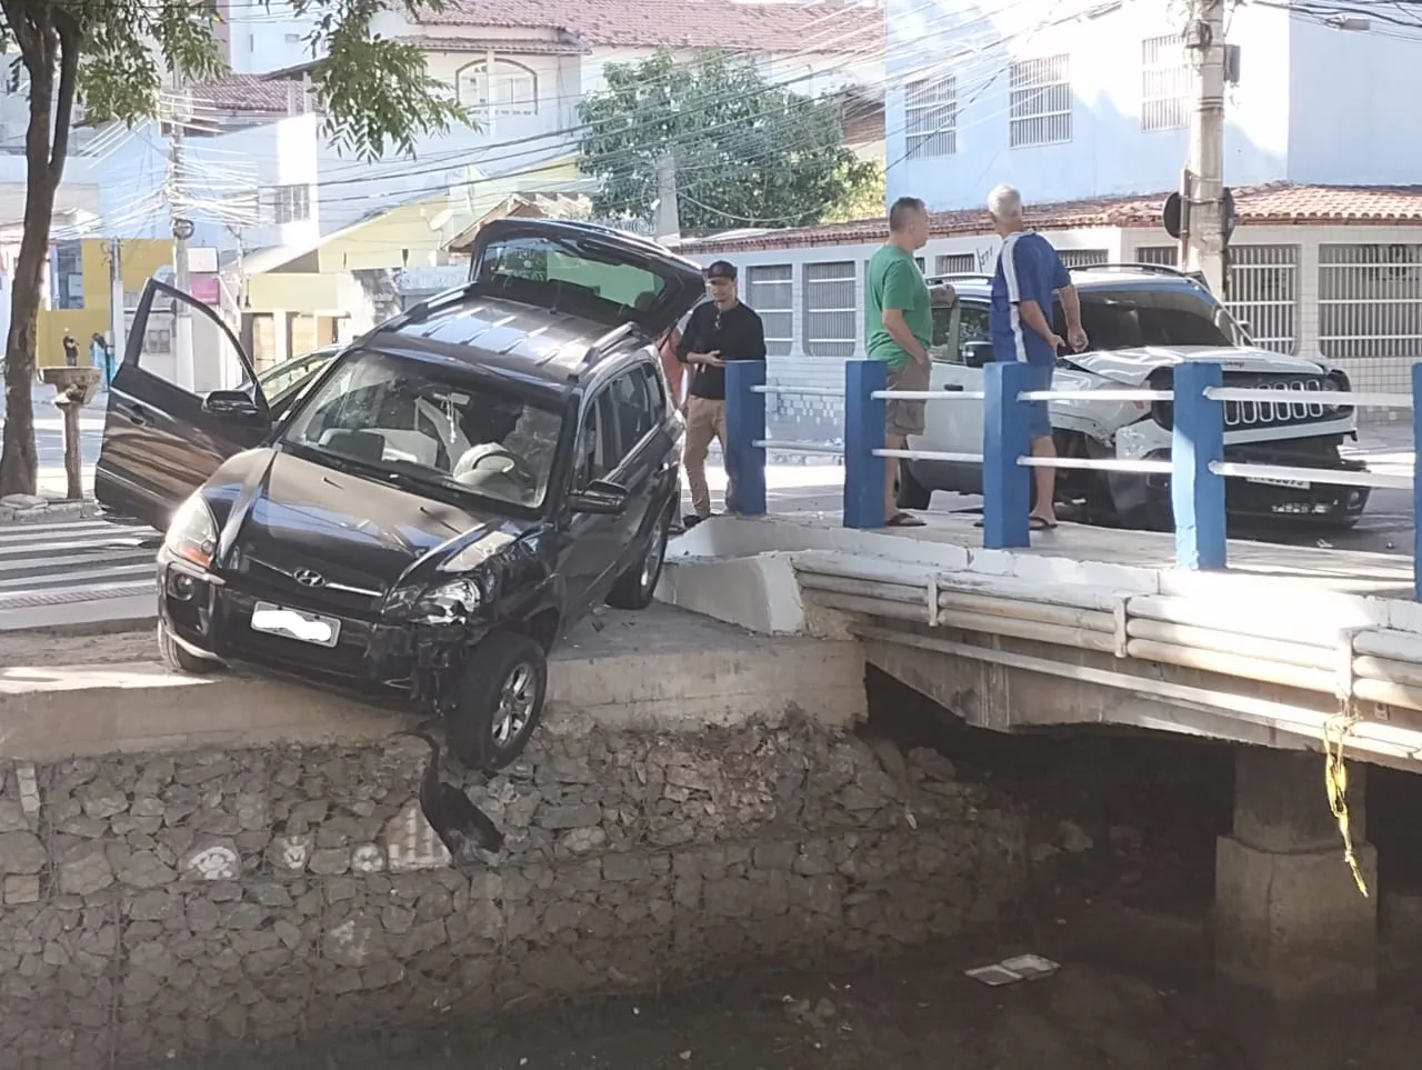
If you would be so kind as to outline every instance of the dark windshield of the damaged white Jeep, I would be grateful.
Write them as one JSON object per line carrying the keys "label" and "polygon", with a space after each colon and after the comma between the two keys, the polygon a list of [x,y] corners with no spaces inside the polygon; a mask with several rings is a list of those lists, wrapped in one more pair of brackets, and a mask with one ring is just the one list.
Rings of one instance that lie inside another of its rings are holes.
{"label": "dark windshield of the damaged white Jeep", "polygon": [[[1094,350],[1139,346],[1243,346],[1239,324],[1214,302],[1185,287],[1078,289],[1081,326]],[[1055,330],[1066,333],[1066,317],[1057,306]]]}

